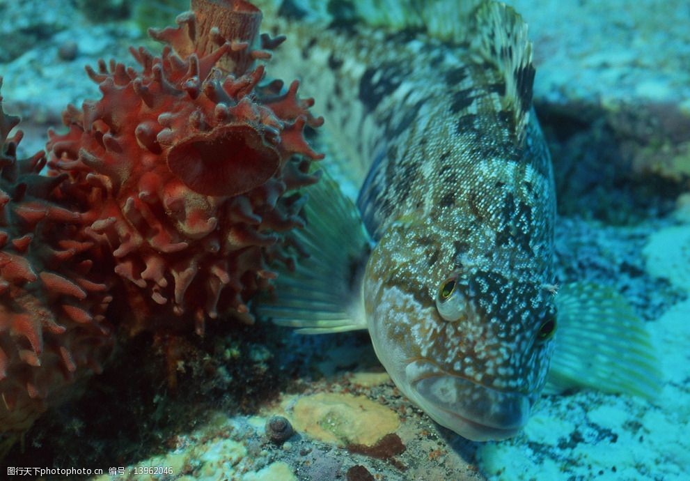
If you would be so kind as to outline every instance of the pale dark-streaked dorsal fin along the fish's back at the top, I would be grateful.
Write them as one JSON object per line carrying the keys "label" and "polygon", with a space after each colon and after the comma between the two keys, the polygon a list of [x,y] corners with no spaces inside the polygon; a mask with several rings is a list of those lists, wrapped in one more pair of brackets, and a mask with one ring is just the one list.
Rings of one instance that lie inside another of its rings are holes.
{"label": "pale dark-streaked dorsal fin along the fish's back at the top", "polygon": [[379,28],[425,31],[446,43],[469,45],[505,82],[501,110],[509,113],[522,144],[532,106],[535,69],[527,24],[510,6],[493,0],[371,0],[352,4],[360,22]]}

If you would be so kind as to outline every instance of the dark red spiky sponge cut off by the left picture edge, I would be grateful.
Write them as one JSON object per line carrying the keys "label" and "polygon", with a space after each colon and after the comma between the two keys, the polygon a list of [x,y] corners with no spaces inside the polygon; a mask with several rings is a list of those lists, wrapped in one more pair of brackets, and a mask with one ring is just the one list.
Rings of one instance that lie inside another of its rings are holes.
{"label": "dark red spiky sponge cut off by the left picture edge", "polygon": [[51,197],[66,176],[40,176],[42,152],[17,160],[17,123],[0,97],[0,432],[23,431],[68,397],[112,345],[97,250],[81,215]]}

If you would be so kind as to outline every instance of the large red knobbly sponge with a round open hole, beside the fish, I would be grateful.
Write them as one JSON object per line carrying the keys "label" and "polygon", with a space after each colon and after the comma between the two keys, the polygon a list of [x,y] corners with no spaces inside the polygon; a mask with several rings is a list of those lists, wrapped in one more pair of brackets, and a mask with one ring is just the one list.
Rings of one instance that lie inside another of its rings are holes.
{"label": "large red knobbly sponge with a round open hole, beside the fish", "polygon": [[73,182],[64,196],[90,206],[86,232],[109,246],[127,284],[134,331],[189,319],[203,333],[219,314],[251,321],[246,300],[303,224],[300,194],[286,192],[316,181],[308,171],[321,158],[303,135],[322,123],[313,101],[297,98],[297,82],[285,92],[261,83],[255,60],[281,39],[258,37],[260,10],[192,6],[177,28],[150,32],[168,44],[161,56],[131,49],[140,70],[87,69],[101,100],[68,108],[69,131],[49,133],[50,166]]}

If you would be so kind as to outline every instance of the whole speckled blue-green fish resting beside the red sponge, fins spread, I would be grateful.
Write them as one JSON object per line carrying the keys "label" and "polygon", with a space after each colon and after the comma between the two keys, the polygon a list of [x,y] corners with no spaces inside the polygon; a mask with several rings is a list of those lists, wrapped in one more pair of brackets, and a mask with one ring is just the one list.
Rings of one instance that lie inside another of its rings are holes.
{"label": "whole speckled blue-green fish resting beside the red sponge, fins spread", "polygon": [[298,47],[271,67],[313,85],[331,160],[305,190],[308,257],[258,315],[368,330],[400,391],[472,441],[517,435],[544,393],[652,397],[657,358],[625,298],[558,286],[522,17],[489,0],[340,1],[325,21],[288,3],[276,15]]}

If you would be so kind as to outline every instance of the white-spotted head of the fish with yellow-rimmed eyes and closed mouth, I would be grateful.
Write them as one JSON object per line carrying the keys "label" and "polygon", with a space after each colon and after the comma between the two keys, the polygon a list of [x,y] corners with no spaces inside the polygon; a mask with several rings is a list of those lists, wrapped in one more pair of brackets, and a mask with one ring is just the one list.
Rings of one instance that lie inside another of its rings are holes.
{"label": "white-spotted head of the fish with yellow-rimmed eyes and closed mouth", "polygon": [[509,438],[553,351],[551,262],[501,252],[490,231],[462,234],[450,214],[393,223],[366,267],[367,322],[395,384],[432,419],[474,441]]}

